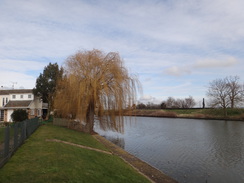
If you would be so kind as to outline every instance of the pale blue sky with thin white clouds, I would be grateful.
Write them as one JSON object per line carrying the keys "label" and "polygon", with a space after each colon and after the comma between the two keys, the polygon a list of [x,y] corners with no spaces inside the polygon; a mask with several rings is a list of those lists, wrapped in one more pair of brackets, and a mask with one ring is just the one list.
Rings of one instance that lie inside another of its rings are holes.
{"label": "pale blue sky with thin white clouds", "polygon": [[33,88],[78,50],[118,52],[141,102],[192,96],[244,80],[243,0],[0,0],[0,86]]}

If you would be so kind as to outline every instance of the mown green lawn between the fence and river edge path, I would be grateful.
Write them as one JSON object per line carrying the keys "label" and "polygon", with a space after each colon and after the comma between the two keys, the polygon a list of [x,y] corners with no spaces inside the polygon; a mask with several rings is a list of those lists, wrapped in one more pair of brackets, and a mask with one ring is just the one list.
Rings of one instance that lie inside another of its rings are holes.
{"label": "mown green lawn between the fence and river edge path", "polygon": [[45,141],[54,138],[106,150],[91,135],[44,125],[0,169],[0,182],[149,182],[115,155]]}

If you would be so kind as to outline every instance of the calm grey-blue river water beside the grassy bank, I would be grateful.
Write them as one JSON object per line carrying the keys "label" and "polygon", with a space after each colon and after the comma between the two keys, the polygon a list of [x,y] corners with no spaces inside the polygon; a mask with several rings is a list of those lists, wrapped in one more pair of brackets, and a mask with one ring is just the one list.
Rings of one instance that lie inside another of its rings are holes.
{"label": "calm grey-blue river water beside the grassy bank", "polygon": [[244,182],[244,122],[125,117],[123,134],[95,130],[179,182]]}

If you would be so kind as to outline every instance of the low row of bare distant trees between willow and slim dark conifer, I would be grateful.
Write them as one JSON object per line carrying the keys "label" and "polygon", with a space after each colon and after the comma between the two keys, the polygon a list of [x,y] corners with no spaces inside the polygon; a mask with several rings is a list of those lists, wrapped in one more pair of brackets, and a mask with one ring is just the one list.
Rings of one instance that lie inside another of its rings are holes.
{"label": "low row of bare distant trees between willow and slim dark conifer", "polygon": [[167,100],[162,101],[161,104],[153,104],[151,102],[147,104],[139,103],[137,104],[137,109],[166,109],[166,108],[193,108],[196,105],[195,100],[192,96],[184,99],[175,99],[173,97],[168,97]]}

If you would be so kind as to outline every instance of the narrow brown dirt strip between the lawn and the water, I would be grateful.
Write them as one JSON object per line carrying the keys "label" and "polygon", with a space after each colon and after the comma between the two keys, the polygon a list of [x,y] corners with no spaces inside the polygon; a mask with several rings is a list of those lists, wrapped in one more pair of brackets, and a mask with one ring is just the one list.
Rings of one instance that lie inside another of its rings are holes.
{"label": "narrow brown dirt strip between the lawn and the water", "polygon": [[145,175],[149,178],[152,182],[156,183],[176,183],[177,181],[172,179],[171,177],[163,174],[158,169],[150,166],[149,164],[145,163],[144,161],[140,160],[139,158],[129,154],[128,152],[124,151],[122,148],[116,146],[112,142],[108,141],[104,137],[100,135],[93,135],[99,142],[104,144],[113,154],[121,157],[124,161],[129,163],[132,167],[138,170],[140,173]]}

